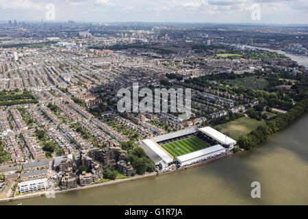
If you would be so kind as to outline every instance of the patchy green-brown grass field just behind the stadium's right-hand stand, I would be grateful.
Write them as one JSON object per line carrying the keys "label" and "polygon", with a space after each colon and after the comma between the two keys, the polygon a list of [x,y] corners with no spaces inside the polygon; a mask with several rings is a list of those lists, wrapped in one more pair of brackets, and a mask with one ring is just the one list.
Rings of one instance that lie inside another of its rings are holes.
{"label": "patchy green-brown grass field just behind the stadium's right-hand stand", "polygon": [[257,128],[259,125],[263,125],[264,123],[264,121],[258,121],[245,116],[235,119],[229,123],[216,125],[215,128],[222,133],[228,132],[231,138],[238,140],[240,136],[250,133],[253,129]]}

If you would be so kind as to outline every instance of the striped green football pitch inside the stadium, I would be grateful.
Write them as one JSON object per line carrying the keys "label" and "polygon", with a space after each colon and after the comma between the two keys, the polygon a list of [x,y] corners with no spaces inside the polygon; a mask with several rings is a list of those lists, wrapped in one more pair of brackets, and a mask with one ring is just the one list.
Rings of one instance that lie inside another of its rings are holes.
{"label": "striped green football pitch inside the stadium", "polygon": [[[202,140],[192,137],[192,138],[186,138],[184,140],[179,140],[177,142],[172,142],[169,144],[164,144],[162,146],[170,155],[173,157],[177,157],[179,155],[185,155],[186,153],[190,153],[193,151],[198,151],[201,149],[205,149],[209,147],[209,144],[206,142],[203,142]],[[176,148],[179,148],[179,151],[176,150]]]}

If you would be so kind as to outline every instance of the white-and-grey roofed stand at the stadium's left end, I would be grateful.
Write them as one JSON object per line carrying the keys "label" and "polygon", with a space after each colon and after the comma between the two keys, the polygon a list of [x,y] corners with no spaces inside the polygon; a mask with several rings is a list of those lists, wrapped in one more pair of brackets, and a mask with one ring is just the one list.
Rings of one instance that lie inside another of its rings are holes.
{"label": "white-and-grey roofed stand at the stadium's left end", "polygon": [[173,161],[173,158],[170,157],[161,147],[151,139],[142,140],[144,144],[141,144],[142,149],[150,159],[153,160],[155,164],[164,160],[166,164],[169,164]]}

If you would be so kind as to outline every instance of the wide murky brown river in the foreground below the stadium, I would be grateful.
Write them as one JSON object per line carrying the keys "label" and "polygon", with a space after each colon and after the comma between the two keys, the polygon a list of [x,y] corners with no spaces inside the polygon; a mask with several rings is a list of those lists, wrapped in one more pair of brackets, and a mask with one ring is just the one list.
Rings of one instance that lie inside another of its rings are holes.
{"label": "wide murky brown river in the foreground below the stadium", "polygon": [[[250,151],[166,175],[0,205],[308,205],[308,114]],[[261,198],[251,198],[251,182]]]}

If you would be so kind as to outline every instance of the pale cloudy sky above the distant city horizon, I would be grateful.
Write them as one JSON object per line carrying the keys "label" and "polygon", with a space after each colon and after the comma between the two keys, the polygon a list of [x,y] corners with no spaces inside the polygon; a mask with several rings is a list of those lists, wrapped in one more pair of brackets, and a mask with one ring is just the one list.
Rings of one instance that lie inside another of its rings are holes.
{"label": "pale cloudy sky above the distant city horizon", "polygon": [[0,21],[14,19],[308,24],[308,0],[0,0]]}

